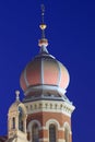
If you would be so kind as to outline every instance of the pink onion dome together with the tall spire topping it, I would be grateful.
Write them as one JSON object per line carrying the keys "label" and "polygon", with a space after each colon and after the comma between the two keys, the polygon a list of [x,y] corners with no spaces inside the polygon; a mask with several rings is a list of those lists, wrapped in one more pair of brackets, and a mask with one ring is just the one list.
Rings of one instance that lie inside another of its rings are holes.
{"label": "pink onion dome together with the tall spire topping it", "polygon": [[63,95],[69,85],[70,76],[67,68],[52,57],[48,50],[48,40],[45,38],[46,24],[44,23],[44,8],[41,12],[43,22],[41,39],[38,42],[39,54],[26,64],[20,79],[20,84],[25,95],[59,94]]}

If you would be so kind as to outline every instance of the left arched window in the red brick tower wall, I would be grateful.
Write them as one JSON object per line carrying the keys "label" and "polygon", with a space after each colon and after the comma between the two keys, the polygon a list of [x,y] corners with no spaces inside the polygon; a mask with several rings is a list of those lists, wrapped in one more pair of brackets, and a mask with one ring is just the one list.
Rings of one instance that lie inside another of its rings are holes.
{"label": "left arched window in the red brick tower wall", "polygon": [[39,142],[39,130],[37,123],[34,123],[32,127],[32,142]]}

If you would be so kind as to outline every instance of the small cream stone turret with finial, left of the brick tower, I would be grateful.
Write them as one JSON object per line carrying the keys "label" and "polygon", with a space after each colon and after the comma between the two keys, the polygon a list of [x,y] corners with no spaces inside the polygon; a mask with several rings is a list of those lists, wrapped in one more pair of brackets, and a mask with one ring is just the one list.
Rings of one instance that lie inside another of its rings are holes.
{"label": "small cream stone turret with finial, left of the brick tower", "polygon": [[26,108],[20,102],[20,92],[16,91],[16,99],[9,108],[8,114],[8,141],[7,142],[27,142],[26,133]]}

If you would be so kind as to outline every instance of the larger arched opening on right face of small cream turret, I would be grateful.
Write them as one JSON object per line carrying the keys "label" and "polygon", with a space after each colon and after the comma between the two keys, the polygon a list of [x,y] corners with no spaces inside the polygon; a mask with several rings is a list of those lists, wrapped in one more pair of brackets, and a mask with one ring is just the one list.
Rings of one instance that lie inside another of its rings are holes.
{"label": "larger arched opening on right face of small cream turret", "polygon": [[20,111],[20,114],[19,114],[19,129],[21,130],[21,131],[24,131],[24,128],[23,128],[23,110],[22,110],[22,107],[19,107],[19,111]]}

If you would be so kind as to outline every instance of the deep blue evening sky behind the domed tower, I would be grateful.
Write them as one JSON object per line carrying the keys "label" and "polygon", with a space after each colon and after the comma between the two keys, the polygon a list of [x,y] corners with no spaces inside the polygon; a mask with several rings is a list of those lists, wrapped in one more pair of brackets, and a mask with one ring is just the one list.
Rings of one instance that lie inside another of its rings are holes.
{"label": "deep blue evening sky behind the domed tower", "polygon": [[73,142],[95,141],[95,1],[0,1],[0,135],[7,134],[7,114],[21,91],[20,75],[37,55],[40,4],[46,7],[48,50],[69,70],[67,96],[75,105]]}

